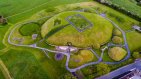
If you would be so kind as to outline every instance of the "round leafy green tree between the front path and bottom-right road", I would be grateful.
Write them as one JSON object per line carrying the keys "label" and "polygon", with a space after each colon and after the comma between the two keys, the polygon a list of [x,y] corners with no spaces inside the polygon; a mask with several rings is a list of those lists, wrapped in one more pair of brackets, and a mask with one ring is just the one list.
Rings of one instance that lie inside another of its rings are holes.
{"label": "round leafy green tree between the front path and bottom-right road", "polygon": [[96,70],[98,75],[104,75],[110,72],[110,67],[107,64],[99,63],[96,65]]}

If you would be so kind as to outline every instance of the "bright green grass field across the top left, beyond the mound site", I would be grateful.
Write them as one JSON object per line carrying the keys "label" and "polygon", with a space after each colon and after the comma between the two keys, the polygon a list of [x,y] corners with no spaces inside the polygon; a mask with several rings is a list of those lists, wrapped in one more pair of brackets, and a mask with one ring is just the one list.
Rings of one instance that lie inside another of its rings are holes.
{"label": "bright green grass field across the top left, beyond the mound site", "polygon": [[[85,2],[89,0],[2,0],[1,5],[3,8],[0,9],[0,14],[8,17],[8,21],[11,23],[16,23],[18,21],[27,19],[32,16],[36,12],[49,9],[50,7],[55,7],[63,4],[77,3],[77,2]],[[31,4],[32,3],[32,4]],[[19,5],[21,4],[21,5]],[[6,7],[5,7],[6,6]],[[13,16],[14,15],[14,16]]]}

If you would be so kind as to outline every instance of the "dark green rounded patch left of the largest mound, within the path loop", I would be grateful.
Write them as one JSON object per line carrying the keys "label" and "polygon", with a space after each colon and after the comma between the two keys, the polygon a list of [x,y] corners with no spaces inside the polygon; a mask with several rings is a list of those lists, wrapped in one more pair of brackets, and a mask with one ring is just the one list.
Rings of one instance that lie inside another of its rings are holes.
{"label": "dark green rounded patch left of the largest mound, within the path loop", "polygon": [[40,26],[37,23],[28,23],[20,27],[19,32],[23,36],[30,36],[40,32]]}

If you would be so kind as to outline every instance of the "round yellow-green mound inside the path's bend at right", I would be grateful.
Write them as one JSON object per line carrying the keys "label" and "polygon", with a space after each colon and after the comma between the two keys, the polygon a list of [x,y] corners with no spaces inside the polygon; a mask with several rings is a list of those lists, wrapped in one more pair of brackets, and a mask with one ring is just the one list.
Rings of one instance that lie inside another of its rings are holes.
{"label": "round yellow-green mound inside the path's bend at right", "polygon": [[108,54],[111,57],[111,59],[115,61],[122,60],[125,57],[126,53],[127,53],[126,50],[121,47],[113,47],[110,48],[108,51]]}

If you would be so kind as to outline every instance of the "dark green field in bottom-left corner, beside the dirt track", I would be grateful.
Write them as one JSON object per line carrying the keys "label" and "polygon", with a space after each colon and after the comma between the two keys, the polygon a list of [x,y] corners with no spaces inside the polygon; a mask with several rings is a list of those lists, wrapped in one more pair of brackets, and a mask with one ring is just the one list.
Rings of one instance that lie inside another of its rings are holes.
{"label": "dark green field in bottom-left corner, beside the dirt track", "polygon": [[15,79],[48,78],[37,59],[28,51],[9,50],[0,57]]}

